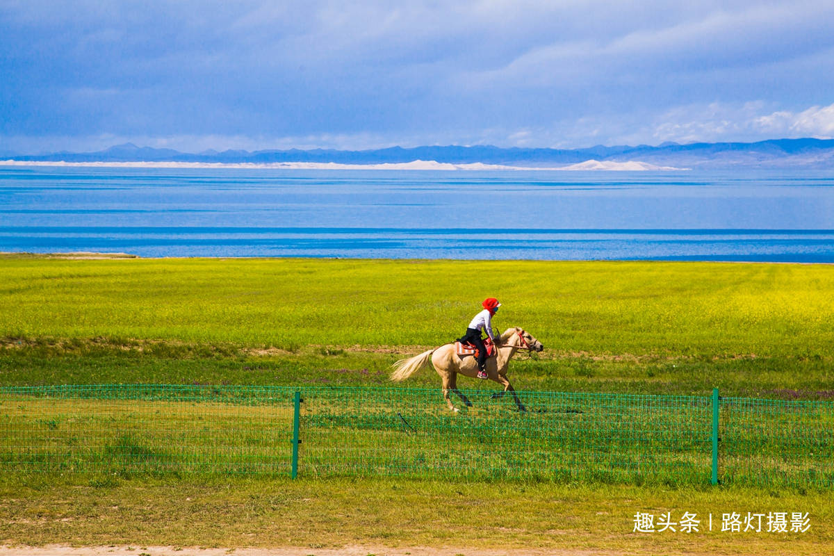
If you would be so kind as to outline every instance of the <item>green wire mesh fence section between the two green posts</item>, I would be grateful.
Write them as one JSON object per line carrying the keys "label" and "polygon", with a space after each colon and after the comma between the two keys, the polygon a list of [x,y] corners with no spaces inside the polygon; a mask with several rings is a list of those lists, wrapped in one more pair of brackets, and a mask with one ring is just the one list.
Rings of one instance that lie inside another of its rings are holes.
{"label": "green wire mesh fence section between the two green posts", "polygon": [[304,391],[304,472],[444,478],[708,481],[707,398],[437,390]]}

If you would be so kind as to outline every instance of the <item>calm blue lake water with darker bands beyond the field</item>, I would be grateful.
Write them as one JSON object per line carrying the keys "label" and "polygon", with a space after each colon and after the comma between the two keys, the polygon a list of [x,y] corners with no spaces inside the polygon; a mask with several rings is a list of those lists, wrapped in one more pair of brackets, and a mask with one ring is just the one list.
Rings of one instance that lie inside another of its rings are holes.
{"label": "calm blue lake water with darker bands beyond the field", "polygon": [[0,167],[0,251],[834,263],[834,171]]}

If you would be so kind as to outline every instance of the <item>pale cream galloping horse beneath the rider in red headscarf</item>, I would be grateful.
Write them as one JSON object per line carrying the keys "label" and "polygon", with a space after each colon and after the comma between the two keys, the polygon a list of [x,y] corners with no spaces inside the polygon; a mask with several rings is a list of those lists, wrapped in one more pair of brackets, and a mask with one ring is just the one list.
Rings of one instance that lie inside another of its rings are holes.
{"label": "pale cream galloping horse beneath the rider in red headscarf", "polygon": [[[507,328],[505,333],[501,334],[498,353],[495,357],[490,357],[486,360],[486,373],[490,380],[499,383],[504,387],[500,393],[495,393],[494,398],[500,398],[505,393],[509,392],[515,399],[515,404],[519,411],[526,411],[524,404],[515,393],[515,389],[507,379],[507,367],[510,364],[510,359],[513,358],[519,349],[526,349],[530,352],[540,352],[545,346],[532,336],[525,332],[524,328]],[[467,407],[472,407],[469,398],[466,398],[457,386],[458,374],[463,374],[467,377],[475,378],[478,376],[478,361],[475,356],[461,357],[455,353],[455,343],[445,343],[439,348],[430,349],[429,351],[414,355],[412,358],[400,359],[392,367],[394,371],[391,373],[391,380],[394,382],[401,382],[409,378],[412,374],[419,371],[421,368],[428,366],[429,362],[434,365],[435,371],[440,374],[443,380],[443,397],[446,403],[449,404],[450,410],[457,412],[458,408],[452,403],[449,396],[449,391],[456,393],[460,400],[466,404]]]}

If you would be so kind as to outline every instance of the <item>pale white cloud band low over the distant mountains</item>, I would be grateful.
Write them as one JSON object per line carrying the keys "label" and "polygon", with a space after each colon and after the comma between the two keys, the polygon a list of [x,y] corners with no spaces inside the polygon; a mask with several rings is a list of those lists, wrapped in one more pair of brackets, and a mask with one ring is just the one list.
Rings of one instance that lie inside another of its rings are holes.
{"label": "pale white cloud band low over the distant mountains", "polygon": [[122,135],[0,137],[0,152],[37,154],[58,150],[96,151],[119,143],[153,148],[173,148],[188,153],[207,149],[334,148],[364,150],[399,145],[478,145],[520,148],[582,148],[595,144],[656,145],[676,143],[756,142],[771,138],[834,138],[834,104],[805,110],[773,110],[772,103],[687,104],[662,113],[594,114],[565,118],[550,125],[518,128],[495,126],[462,133],[435,129],[430,133],[309,133],[270,136],[264,134]]}

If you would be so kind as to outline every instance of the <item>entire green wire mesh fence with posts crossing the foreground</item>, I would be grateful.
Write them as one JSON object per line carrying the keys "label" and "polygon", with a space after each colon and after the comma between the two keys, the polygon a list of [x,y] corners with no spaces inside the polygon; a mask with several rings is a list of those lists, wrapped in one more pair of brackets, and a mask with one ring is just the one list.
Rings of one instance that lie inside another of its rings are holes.
{"label": "entire green wire mesh fence with posts crossing the foreground", "polygon": [[519,412],[465,394],[452,413],[421,388],[0,388],[0,466],[834,486],[831,402],[528,392]]}

